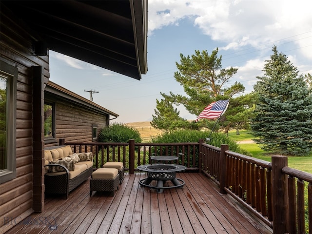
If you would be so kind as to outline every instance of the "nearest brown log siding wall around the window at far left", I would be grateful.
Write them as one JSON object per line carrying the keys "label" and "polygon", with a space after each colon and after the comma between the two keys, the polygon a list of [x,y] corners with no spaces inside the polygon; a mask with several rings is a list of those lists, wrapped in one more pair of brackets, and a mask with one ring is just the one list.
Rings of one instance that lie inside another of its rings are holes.
{"label": "nearest brown log siding wall around the window at far left", "polygon": [[[41,66],[42,79],[47,83],[49,60],[48,56],[34,55],[32,41],[36,35],[30,35],[27,27],[2,5],[0,17],[0,59],[18,69],[16,178],[0,184],[0,233],[3,233],[34,210],[43,209],[42,200],[34,199],[36,193],[34,193],[33,178],[39,177],[39,184],[41,184],[37,194],[42,195],[44,185],[42,185],[42,165],[41,168],[40,165],[37,167],[35,173],[33,170],[33,163],[36,161],[33,150],[33,98],[36,98],[33,97],[33,71],[34,67]],[[43,90],[41,92],[43,93]],[[40,142],[38,145],[40,148]],[[38,157],[40,161],[40,153]]]}

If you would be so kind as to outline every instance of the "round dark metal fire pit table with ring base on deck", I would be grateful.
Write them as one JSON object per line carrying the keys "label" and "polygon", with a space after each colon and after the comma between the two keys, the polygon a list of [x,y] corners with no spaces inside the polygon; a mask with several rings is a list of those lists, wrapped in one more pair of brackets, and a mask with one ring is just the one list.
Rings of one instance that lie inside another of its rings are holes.
{"label": "round dark metal fire pit table with ring base on deck", "polygon": [[[139,184],[145,187],[157,189],[158,193],[162,193],[163,189],[172,189],[182,187],[185,182],[183,179],[176,178],[177,172],[182,172],[186,170],[185,166],[177,164],[145,164],[137,167],[138,170],[147,173],[147,178],[141,179]],[[152,186],[150,183],[156,180],[157,185]],[[164,187],[164,181],[170,180],[173,183],[173,186]]]}

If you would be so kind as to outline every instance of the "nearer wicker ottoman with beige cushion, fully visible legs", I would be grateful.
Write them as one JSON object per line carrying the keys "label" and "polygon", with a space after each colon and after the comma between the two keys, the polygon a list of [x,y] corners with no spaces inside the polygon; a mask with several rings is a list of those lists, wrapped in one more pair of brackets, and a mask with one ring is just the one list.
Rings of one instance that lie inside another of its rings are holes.
{"label": "nearer wicker ottoman with beige cushion, fully visible legs", "polygon": [[90,179],[90,196],[93,191],[110,192],[114,196],[118,185],[119,174],[116,168],[99,168],[92,173]]}

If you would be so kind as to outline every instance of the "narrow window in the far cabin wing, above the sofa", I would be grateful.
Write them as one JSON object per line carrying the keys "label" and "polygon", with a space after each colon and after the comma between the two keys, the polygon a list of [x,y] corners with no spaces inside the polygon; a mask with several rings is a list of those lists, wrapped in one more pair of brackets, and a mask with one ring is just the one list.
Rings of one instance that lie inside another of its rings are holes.
{"label": "narrow window in the far cabin wing, above the sofa", "polygon": [[44,139],[55,138],[54,109],[53,103],[44,103]]}

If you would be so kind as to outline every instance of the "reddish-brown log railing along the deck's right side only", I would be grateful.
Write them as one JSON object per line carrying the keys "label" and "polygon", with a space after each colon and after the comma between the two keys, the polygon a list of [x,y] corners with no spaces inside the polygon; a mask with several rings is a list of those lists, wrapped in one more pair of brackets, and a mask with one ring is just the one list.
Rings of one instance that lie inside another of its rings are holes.
{"label": "reddish-brown log railing along the deck's right side only", "polygon": [[228,145],[199,147],[200,170],[220,193],[232,195],[274,234],[312,234],[312,174],[288,167],[287,156],[272,156],[270,163],[231,152]]}

